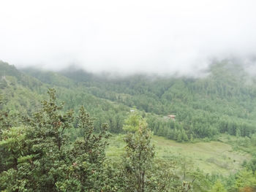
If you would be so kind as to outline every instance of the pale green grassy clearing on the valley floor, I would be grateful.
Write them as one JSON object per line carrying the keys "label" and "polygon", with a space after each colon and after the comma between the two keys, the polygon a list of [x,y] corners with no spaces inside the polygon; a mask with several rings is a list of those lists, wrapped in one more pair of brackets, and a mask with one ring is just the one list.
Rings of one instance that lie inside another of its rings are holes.
{"label": "pale green grassy clearing on the valley floor", "polygon": [[[241,164],[251,158],[249,153],[238,152],[224,142],[179,143],[164,137],[154,136],[152,142],[159,158],[180,156],[191,161],[195,167],[205,173],[228,175],[241,169]],[[108,158],[118,161],[124,153],[123,135],[115,135],[110,139],[107,150]]]}

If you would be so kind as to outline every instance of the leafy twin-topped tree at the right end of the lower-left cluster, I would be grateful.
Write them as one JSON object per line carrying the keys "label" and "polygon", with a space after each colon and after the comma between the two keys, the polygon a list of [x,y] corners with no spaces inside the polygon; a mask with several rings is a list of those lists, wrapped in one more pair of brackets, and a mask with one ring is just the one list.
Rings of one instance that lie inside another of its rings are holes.
{"label": "leafy twin-topped tree at the right end of the lower-left cluster", "polygon": [[83,139],[72,144],[69,164],[61,166],[61,177],[56,183],[59,191],[101,191],[105,188],[105,147],[108,145],[108,125],[102,124],[99,134],[94,134],[94,119],[84,107],[80,107],[78,128],[83,132]]}

